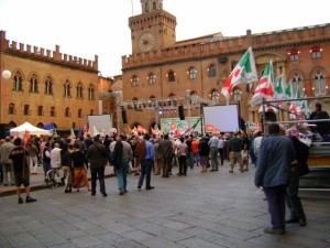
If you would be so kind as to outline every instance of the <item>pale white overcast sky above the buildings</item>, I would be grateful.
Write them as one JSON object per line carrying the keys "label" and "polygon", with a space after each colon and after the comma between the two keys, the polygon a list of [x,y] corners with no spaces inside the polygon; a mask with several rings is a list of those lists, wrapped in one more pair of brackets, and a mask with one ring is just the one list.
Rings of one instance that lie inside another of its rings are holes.
{"label": "pale white overcast sky above the buildings", "polygon": [[[133,6],[132,6],[133,3]],[[222,32],[224,36],[329,23],[327,0],[164,0],[176,15],[177,41]],[[103,76],[121,74],[130,55],[129,18],[140,0],[0,0],[0,30],[7,39],[94,60]]]}

